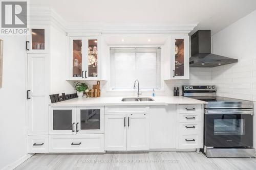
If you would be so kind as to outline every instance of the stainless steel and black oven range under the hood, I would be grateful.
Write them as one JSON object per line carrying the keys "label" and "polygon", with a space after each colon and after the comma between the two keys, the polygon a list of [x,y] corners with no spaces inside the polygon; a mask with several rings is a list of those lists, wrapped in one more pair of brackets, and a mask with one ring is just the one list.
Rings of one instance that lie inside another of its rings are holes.
{"label": "stainless steel and black oven range under the hood", "polygon": [[206,101],[204,149],[207,157],[255,157],[253,102],[216,95],[215,85],[184,85],[183,96]]}

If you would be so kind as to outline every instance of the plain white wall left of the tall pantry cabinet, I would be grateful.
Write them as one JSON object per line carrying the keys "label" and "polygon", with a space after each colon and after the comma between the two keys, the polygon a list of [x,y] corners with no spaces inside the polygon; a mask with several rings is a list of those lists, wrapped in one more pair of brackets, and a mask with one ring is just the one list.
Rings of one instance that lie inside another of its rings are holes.
{"label": "plain white wall left of the tall pantry cabinet", "polygon": [[0,88],[0,169],[27,154],[25,36],[4,40],[3,87]]}

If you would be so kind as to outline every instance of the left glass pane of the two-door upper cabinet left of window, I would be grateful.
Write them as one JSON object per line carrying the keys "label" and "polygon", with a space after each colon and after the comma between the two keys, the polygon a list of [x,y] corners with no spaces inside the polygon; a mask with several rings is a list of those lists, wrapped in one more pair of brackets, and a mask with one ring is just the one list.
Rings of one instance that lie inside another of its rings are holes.
{"label": "left glass pane of the two-door upper cabinet left of window", "polygon": [[83,78],[82,75],[82,40],[72,40],[72,77]]}

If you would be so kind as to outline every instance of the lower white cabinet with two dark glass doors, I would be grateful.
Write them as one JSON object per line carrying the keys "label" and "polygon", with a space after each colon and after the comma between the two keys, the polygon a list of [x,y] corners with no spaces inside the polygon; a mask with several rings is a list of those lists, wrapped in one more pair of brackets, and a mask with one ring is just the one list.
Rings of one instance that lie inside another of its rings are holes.
{"label": "lower white cabinet with two dark glass doors", "polygon": [[104,107],[51,107],[50,134],[104,133]]}

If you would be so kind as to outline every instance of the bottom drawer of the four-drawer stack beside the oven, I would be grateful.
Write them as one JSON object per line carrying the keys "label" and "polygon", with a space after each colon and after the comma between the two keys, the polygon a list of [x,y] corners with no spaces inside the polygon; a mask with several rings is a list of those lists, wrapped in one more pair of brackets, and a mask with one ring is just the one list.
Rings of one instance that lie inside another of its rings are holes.
{"label": "bottom drawer of the four-drawer stack beside the oven", "polygon": [[202,148],[200,134],[180,135],[179,149],[197,149],[197,148]]}

